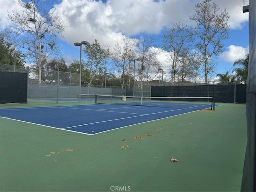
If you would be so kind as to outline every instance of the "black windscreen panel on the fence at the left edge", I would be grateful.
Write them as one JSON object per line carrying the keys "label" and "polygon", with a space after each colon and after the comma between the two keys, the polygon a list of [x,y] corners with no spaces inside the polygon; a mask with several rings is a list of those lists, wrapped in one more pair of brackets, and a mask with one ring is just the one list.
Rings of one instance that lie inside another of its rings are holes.
{"label": "black windscreen panel on the fence at the left edge", "polygon": [[0,103],[26,103],[28,74],[0,72]]}

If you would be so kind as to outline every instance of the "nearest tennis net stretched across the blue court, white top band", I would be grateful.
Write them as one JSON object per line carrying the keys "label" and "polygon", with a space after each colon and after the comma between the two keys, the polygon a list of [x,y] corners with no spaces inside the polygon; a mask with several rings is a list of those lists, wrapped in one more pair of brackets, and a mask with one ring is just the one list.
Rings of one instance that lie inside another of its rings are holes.
{"label": "nearest tennis net stretched across the blue court, white top band", "polygon": [[96,94],[95,103],[194,110],[215,110],[214,97],[133,97]]}

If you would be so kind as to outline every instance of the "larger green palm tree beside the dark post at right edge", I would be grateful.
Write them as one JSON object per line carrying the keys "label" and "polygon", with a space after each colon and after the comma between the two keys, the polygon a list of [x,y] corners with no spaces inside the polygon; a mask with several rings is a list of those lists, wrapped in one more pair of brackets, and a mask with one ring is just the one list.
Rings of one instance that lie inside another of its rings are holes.
{"label": "larger green palm tree beside the dark post at right edge", "polygon": [[[248,76],[248,64],[249,64],[249,54],[246,54],[244,58],[237,59],[233,64],[233,72],[236,80],[244,81]],[[235,67],[237,66],[237,67]]]}

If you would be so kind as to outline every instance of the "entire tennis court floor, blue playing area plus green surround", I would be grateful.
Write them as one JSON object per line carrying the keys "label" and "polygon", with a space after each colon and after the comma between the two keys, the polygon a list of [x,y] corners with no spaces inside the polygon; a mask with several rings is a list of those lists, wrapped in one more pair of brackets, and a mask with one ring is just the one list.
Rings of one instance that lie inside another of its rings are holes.
{"label": "entire tennis court floor, blue playing area plus green surround", "polygon": [[240,191],[244,104],[142,101],[1,106],[0,191]]}

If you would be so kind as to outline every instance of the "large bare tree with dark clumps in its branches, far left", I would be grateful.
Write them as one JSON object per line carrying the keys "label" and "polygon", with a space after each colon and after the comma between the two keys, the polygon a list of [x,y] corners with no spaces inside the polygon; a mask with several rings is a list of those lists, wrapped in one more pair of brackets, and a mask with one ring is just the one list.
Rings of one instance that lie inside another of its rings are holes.
{"label": "large bare tree with dark clumps in its branches, far left", "polygon": [[55,14],[54,8],[50,11],[44,8],[47,0],[16,2],[23,10],[8,11],[6,18],[12,21],[12,25],[5,29],[8,32],[6,38],[16,47],[27,50],[28,59],[30,62],[36,62],[39,68],[38,82],[41,83],[42,54],[57,53],[57,38],[62,36],[64,22]]}

